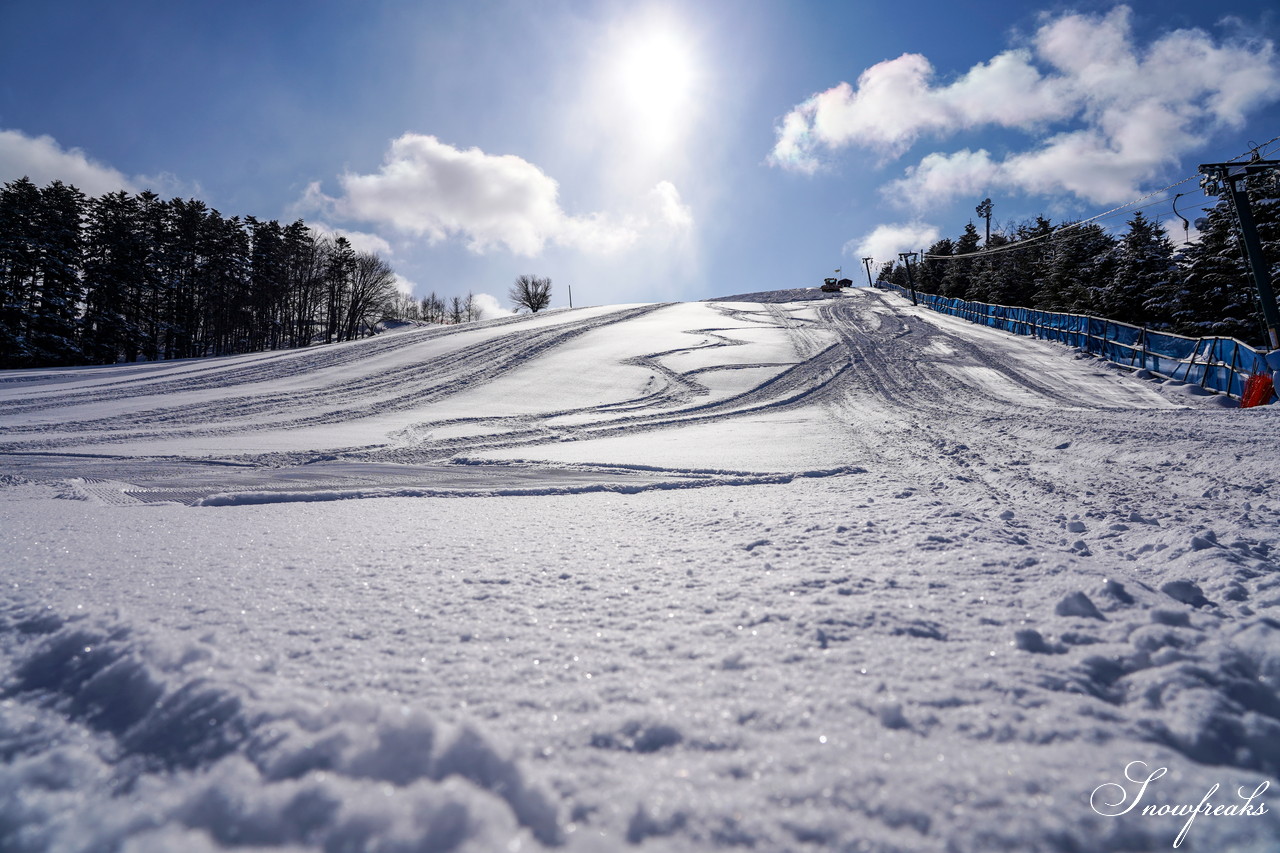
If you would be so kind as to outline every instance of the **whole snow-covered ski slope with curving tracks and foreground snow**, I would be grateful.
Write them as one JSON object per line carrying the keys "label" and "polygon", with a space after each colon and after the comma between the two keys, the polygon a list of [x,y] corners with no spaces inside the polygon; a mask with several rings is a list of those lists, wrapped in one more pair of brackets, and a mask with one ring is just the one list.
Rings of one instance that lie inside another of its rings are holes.
{"label": "whole snow-covered ski slope with curving tracks and foreground snow", "polygon": [[0,373],[0,849],[1274,852],[1229,402],[867,289]]}

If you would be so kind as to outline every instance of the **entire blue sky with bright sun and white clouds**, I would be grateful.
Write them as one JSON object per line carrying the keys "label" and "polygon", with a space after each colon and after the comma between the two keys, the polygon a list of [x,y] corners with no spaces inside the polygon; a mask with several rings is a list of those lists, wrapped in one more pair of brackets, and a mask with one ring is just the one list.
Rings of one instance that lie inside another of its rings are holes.
{"label": "entire blue sky with bright sun and white clouds", "polygon": [[0,181],[301,216],[417,296],[812,286],[986,196],[1088,216],[1280,136],[1271,1],[8,3],[0,32]]}

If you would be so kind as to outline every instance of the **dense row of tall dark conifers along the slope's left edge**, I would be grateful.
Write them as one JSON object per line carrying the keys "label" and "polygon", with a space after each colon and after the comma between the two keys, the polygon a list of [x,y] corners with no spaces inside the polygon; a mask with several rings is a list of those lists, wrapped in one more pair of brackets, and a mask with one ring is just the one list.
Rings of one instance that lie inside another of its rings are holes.
{"label": "dense row of tall dark conifers along the slope's left edge", "polygon": [[344,237],[154,192],[0,190],[0,368],[255,352],[370,334],[392,268]]}

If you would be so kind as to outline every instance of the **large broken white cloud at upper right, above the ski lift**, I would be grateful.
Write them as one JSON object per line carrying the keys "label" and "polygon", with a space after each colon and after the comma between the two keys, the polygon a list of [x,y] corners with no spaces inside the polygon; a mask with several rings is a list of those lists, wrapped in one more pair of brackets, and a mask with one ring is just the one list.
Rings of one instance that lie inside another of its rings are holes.
{"label": "large broken white cloud at upper right, above the ski lift", "polygon": [[902,155],[920,138],[974,128],[1018,128],[1028,150],[927,155],[888,192],[920,207],[979,187],[1071,193],[1092,202],[1138,195],[1142,182],[1176,165],[1222,128],[1280,99],[1268,41],[1217,42],[1201,29],[1134,45],[1132,13],[1066,14],[1029,46],[980,63],[940,85],[928,59],[905,54],[868,68],[792,109],[778,124],[769,161],[813,173],[850,146]]}

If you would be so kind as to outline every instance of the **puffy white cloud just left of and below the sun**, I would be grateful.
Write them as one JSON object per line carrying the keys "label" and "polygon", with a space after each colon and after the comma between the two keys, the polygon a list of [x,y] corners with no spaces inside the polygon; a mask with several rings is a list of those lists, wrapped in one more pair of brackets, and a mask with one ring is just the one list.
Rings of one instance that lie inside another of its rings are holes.
{"label": "puffy white cloud just left of and below the sun", "polygon": [[532,163],[417,133],[392,141],[376,173],[347,173],[339,182],[340,197],[323,197],[311,187],[305,202],[433,243],[458,238],[476,254],[535,256],[548,245],[612,254],[692,225],[692,214],[669,182],[654,187],[637,210],[571,215],[559,206],[559,184]]}

